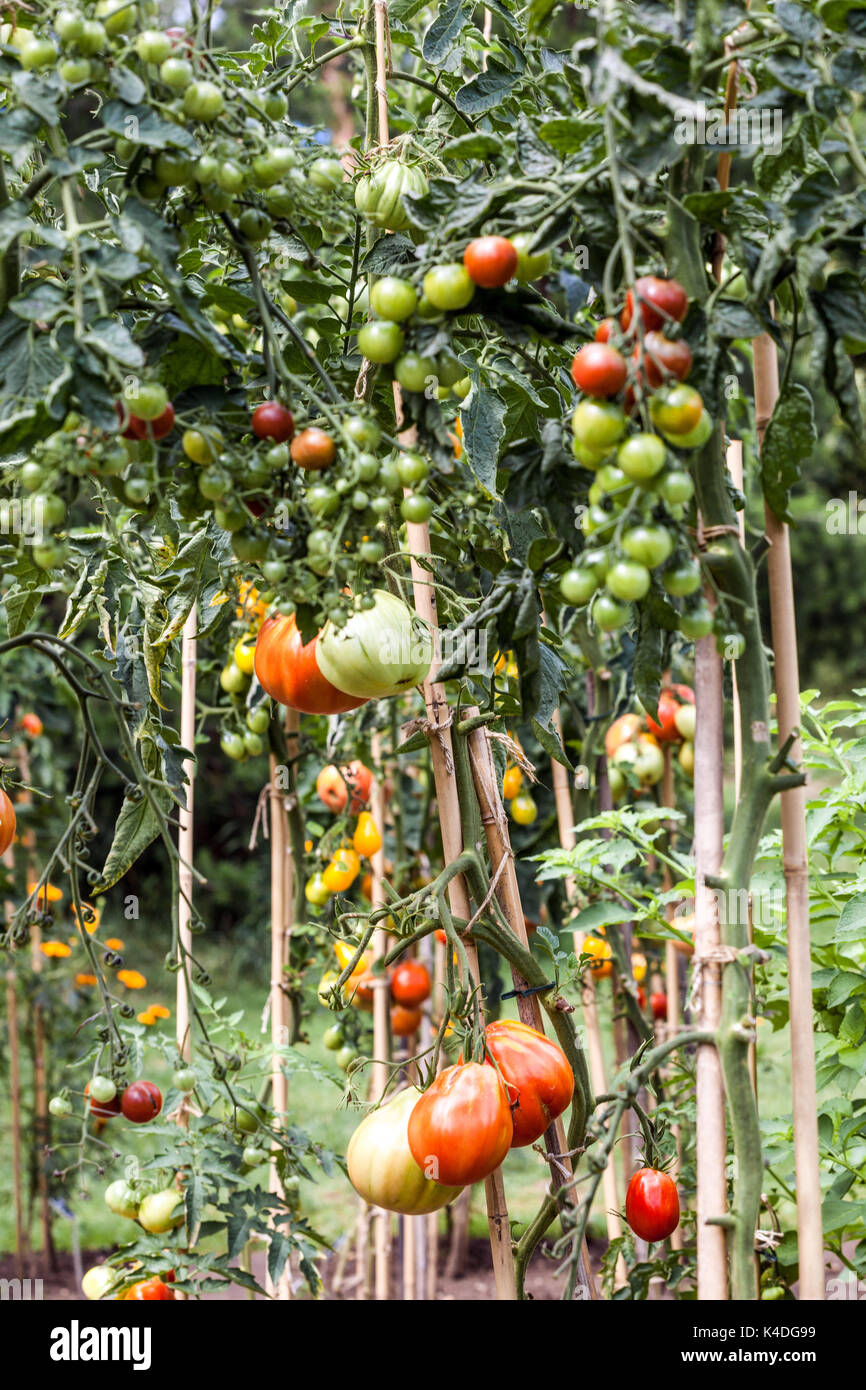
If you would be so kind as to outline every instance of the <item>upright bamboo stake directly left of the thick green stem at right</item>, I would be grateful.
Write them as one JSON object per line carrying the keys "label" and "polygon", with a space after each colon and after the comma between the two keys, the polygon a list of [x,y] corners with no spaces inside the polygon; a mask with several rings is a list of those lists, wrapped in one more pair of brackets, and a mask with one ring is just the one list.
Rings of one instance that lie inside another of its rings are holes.
{"label": "upright bamboo stake directly left of the thick green stem at right", "polygon": [[[721,866],[724,833],[723,803],[723,706],[721,657],[713,635],[695,646],[695,958],[712,956],[721,945],[719,902],[706,878]],[[701,1029],[717,1029],[721,1016],[721,970],[717,960],[703,959],[698,992]],[[727,1286],[727,1240],[723,1226],[708,1225],[727,1207],[724,1083],[714,1044],[698,1047],[698,1298],[724,1300]]]}

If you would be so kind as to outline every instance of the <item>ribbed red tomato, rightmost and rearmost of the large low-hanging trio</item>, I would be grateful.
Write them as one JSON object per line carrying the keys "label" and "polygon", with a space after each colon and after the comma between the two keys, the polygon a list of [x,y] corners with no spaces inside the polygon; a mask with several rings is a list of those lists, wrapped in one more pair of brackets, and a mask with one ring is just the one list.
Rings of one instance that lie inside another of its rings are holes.
{"label": "ribbed red tomato, rightmost and rearmost of the large low-hanging trio", "polygon": [[563,1049],[527,1023],[489,1023],[484,1037],[512,1102],[512,1148],[524,1148],[571,1104],[571,1068]]}

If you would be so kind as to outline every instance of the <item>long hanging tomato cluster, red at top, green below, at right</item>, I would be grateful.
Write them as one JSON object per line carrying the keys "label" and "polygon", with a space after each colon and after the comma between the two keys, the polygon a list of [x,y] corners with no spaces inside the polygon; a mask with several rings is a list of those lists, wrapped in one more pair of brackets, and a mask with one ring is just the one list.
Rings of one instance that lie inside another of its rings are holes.
{"label": "long hanging tomato cluster, red at top, green below, at right", "polygon": [[687,600],[680,613],[687,637],[705,637],[713,626],[699,595],[701,567],[680,539],[694,482],[670,453],[701,448],[713,428],[699,392],[685,384],[692,354],[677,334],[687,309],[677,281],[642,277],[620,320],[603,320],[571,363],[582,392],[573,453],[595,478],[581,517],[587,548],[560,577],[560,592],[567,603],[591,603],[602,631],[621,628],[628,605],[656,581],[669,598]]}

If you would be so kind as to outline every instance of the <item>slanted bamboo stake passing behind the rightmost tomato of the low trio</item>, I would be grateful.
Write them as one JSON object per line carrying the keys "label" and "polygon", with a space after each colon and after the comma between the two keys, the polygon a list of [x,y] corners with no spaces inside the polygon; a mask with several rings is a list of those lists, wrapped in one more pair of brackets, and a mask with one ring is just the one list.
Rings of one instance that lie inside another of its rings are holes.
{"label": "slanted bamboo stake passing behind the rightmost tomato of the low trio", "polygon": [[[468,755],[473,769],[473,781],[478,795],[478,805],[481,808],[481,823],[487,838],[491,872],[498,880],[495,888],[496,899],[509,926],[512,927],[512,931],[521,945],[528,948],[525,919],[523,913],[523,903],[520,901],[517,873],[514,869],[514,853],[512,851],[509,835],[509,823],[505,806],[502,805],[502,798],[499,795],[496,769],[493,766],[491,741],[487,728],[477,728],[468,735]],[[513,967],[512,979],[516,990],[520,991],[521,988],[525,988],[525,980]],[[517,994],[517,1013],[523,1023],[537,1029],[538,1033],[545,1031],[541,1004],[538,1002],[538,997],[535,994]],[[553,1120],[549,1129],[545,1130],[544,1143],[548,1154],[566,1152],[566,1127],[562,1122],[562,1116]],[[562,1168],[555,1159],[550,1159],[550,1186],[555,1190],[559,1190],[564,1186],[564,1183],[566,1176]],[[577,1289],[580,1290],[581,1298],[598,1298],[598,1287],[589,1265],[585,1240],[581,1251]]]}

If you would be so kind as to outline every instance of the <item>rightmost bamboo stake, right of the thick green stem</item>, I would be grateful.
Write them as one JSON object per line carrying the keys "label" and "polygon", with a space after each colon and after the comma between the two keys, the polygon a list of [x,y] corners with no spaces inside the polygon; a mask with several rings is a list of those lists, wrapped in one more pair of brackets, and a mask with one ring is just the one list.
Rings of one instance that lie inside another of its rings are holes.
{"label": "rightmost bamboo stake, right of the thick green stem", "polygon": [[[763,448],[765,431],[778,399],[778,356],[776,345],[767,334],[762,334],[753,342],[753,367],[755,420],[758,425],[758,442]],[[788,527],[766,505],[765,528],[767,541],[770,542],[767,575],[770,582],[770,626],[776,657],[778,742],[784,744],[799,724],[799,671],[796,662],[796,617],[791,577],[791,545]],[[790,756],[792,762],[799,762],[799,739],[794,741]],[[783,791],[780,812],[788,934],[799,1297],[808,1301],[820,1301],[826,1294],[824,1238],[822,1229],[815,1040],[812,1031],[806,788],[794,787]]]}

